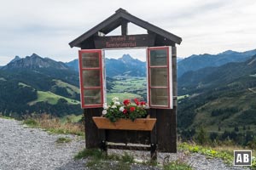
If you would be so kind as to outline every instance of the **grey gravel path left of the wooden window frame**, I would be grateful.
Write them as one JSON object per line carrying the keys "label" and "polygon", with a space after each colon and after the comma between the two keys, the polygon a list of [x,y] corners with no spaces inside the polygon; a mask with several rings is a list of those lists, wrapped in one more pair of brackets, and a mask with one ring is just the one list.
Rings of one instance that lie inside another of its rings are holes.
{"label": "grey gravel path left of the wooden window frame", "polygon": [[[56,144],[60,137],[72,139]],[[73,156],[84,148],[84,140],[73,135],[49,134],[20,122],[0,118],[0,170],[84,169]]]}

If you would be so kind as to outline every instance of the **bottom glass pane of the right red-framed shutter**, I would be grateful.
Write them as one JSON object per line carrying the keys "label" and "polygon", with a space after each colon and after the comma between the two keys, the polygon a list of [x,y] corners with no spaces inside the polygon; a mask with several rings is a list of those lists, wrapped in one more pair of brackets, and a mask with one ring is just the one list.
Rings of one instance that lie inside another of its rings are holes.
{"label": "bottom glass pane of the right red-framed shutter", "polygon": [[168,106],[168,88],[151,88],[151,105]]}

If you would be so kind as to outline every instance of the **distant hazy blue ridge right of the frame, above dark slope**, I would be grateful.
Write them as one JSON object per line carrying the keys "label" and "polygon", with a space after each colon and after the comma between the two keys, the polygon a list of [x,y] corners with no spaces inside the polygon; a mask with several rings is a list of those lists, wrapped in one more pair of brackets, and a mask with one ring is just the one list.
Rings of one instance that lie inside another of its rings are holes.
{"label": "distant hazy blue ridge right of the frame, above dark slope", "polygon": [[217,67],[230,62],[243,62],[256,54],[256,49],[242,53],[228,50],[220,54],[191,55],[177,63],[177,77],[187,71],[197,71],[206,67]]}

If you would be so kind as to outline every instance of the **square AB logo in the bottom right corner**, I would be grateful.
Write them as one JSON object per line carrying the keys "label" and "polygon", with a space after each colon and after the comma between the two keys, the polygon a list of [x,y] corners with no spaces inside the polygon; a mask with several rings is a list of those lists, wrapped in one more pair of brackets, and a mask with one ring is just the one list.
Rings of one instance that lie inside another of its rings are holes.
{"label": "square AB logo in the bottom right corner", "polygon": [[252,166],[252,150],[234,150],[234,166]]}

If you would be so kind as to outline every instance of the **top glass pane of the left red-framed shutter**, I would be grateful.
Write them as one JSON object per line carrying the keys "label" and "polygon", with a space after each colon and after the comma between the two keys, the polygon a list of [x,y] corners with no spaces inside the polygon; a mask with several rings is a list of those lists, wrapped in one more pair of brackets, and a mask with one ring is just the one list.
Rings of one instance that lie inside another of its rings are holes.
{"label": "top glass pane of the left red-framed shutter", "polygon": [[98,53],[84,53],[82,54],[83,68],[99,67],[99,54]]}

